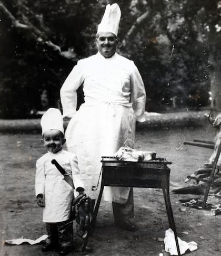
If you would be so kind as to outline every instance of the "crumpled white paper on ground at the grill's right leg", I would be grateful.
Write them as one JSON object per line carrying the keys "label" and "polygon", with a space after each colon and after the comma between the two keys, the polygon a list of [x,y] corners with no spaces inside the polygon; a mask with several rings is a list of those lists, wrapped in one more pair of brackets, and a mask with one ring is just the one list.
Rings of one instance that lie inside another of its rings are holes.
{"label": "crumpled white paper on ground at the grill's right leg", "polygon": [[[178,255],[175,236],[172,229],[168,229],[165,232],[164,244],[166,252],[169,252],[170,255]],[[194,241],[187,243],[178,238],[178,244],[181,255],[184,254],[187,250],[190,252],[197,250],[197,243]]]}

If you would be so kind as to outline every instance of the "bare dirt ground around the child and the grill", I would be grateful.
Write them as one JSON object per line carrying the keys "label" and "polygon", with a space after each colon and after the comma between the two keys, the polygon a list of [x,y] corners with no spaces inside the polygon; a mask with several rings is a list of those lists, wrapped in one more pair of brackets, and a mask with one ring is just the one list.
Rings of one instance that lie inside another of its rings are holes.
{"label": "bare dirt ground around the child and the grill", "polygon": [[[212,127],[176,128],[163,130],[138,130],[136,148],[154,150],[158,157],[172,162],[170,165],[170,191],[187,186],[184,180],[202,166],[212,154],[211,149],[182,145],[183,140],[193,138],[214,139]],[[40,134],[0,134],[0,234],[1,241],[7,239],[37,239],[46,234],[42,222],[42,209],[37,206],[34,195],[35,162],[45,149],[41,145]],[[193,185],[190,182],[188,185]],[[178,236],[186,241],[195,241],[198,250],[187,253],[192,256],[221,255],[221,215],[212,212],[186,208],[180,198],[190,195],[178,195],[170,192],[174,219]],[[192,195],[194,197],[194,195]],[[168,220],[160,189],[134,188],[135,218],[139,230],[128,232],[114,225],[110,203],[102,201],[97,216],[93,237],[89,239],[92,252],[81,252],[81,239],[75,235],[75,250],[69,255],[147,255],[158,256],[164,252],[164,238],[168,229]],[[220,199],[209,197],[215,204]],[[0,255],[58,255],[57,252],[43,253],[42,245],[4,245]]]}

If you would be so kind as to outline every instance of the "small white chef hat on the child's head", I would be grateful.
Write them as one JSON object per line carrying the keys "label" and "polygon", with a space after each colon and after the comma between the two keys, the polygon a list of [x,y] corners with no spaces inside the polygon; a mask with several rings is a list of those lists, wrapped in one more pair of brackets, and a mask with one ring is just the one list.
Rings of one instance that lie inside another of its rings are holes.
{"label": "small white chef hat on the child's head", "polygon": [[56,108],[49,108],[41,119],[42,135],[47,130],[59,130],[64,134],[62,113]]}

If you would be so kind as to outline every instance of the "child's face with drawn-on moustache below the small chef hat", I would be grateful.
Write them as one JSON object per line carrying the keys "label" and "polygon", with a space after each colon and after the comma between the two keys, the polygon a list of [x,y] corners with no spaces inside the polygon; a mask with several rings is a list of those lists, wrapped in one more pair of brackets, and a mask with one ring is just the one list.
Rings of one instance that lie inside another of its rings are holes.
{"label": "child's face with drawn-on moustache below the small chef hat", "polygon": [[59,130],[47,130],[44,132],[42,143],[48,151],[57,153],[65,143],[64,135]]}

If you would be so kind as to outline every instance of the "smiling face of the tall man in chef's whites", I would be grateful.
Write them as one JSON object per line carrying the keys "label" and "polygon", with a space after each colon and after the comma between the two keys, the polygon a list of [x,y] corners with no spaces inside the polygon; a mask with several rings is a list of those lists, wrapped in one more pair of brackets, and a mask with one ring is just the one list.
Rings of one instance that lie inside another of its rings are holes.
{"label": "smiling face of the tall man in chef's whites", "polygon": [[96,36],[96,44],[98,52],[105,58],[110,58],[116,52],[118,39],[115,34],[111,32],[99,32]]}

